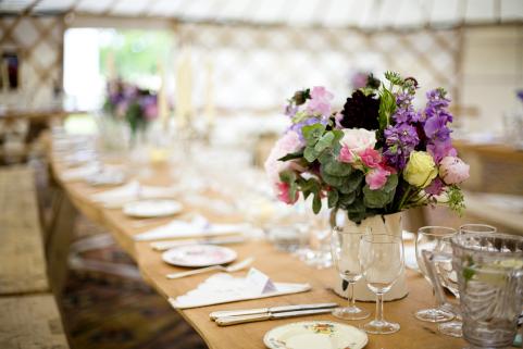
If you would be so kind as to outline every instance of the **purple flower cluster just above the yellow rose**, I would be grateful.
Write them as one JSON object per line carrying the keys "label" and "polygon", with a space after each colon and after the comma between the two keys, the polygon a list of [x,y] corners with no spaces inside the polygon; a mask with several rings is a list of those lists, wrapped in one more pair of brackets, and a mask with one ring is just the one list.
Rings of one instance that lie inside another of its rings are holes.
{"label": "purple flower cluster just above the yellow rose", "polygon": [[415,146],[420,142],[414,126],[409,124],[397,124],[388,126],[384,130],[386,162],[396,169],[403,169],[407,160]]}

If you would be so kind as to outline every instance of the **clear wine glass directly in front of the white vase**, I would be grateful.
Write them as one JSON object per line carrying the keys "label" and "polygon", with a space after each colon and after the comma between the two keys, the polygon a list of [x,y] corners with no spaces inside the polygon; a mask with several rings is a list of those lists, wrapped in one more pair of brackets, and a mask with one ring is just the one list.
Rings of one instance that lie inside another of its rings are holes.
{"label": "clear wine glass directly in front of the white vase", "polygon": [[349,284],[347,287],[349,306],[339,307],[333,311],[334,316],[343,320],[361,320],[369,317],[371,314],[365,309],[358,308],[354,299],[354,284],[362,276],[358,253],[363,235],[354,227],[335,226],[331,237],[331,252],[334,264],[339,276]]}

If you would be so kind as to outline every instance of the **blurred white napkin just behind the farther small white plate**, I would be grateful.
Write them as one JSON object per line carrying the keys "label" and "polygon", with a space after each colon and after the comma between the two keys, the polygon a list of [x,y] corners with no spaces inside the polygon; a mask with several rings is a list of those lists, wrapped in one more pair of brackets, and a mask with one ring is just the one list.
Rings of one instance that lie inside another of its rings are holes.
{"label": "blurred white napkin just behind the farther small white plate", "polygon": [[166,199],[177,196],[178,188],[144,186],[138,180],[133,180],[121,187],[97,192],[91,196],[91,200],[101,202],[107,208],[122,208],[125,203],[140,199]]}

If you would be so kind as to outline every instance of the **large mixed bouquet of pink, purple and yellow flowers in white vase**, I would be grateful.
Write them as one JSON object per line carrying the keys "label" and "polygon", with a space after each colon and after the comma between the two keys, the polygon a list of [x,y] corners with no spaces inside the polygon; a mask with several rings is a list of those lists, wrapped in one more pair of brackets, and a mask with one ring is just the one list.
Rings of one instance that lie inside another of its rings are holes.
{"label": "large mixed bouquet of pink, purple and yellow flowers in white vase", "polygon": [[290,127],[265,162],[277,197],[290,204],[312,196],[314,213],[326,198],[356,223],[436,203],[461,213],[469,165],[452,147],[450,100],[437,88],[416,110],[416,90],[412,77],[370,75],[341,111],[324,87],[297,91],[285,108]]}

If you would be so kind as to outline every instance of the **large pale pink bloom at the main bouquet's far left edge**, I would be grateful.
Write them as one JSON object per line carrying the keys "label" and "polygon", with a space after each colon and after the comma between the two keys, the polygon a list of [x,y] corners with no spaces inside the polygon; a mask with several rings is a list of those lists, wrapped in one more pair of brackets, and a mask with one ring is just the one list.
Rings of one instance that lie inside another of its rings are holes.
{"label": "large pale pink bloom at the main bouquet's far left edge", "polygon": [[288,153],[296,152],[302,147],[300,136],[289,130],[274,145],[269,158],[265,160],[265,172],[273,184],[279,183],[279,174],[290,169],[291,161],[278,161]]}

